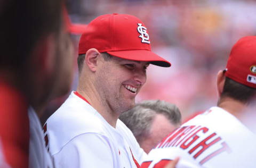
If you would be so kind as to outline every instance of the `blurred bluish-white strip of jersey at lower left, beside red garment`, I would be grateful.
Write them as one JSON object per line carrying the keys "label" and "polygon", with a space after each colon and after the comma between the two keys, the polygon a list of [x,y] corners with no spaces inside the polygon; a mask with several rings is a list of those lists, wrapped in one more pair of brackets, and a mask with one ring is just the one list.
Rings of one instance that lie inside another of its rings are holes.
{"label": "blurred bluish-white strip of jersey at lower left, beside red garment", "polygon": [[29,117],[29,168],[52,168],[50,154],[45,148],[41,123],[32,107],[28,109]]}

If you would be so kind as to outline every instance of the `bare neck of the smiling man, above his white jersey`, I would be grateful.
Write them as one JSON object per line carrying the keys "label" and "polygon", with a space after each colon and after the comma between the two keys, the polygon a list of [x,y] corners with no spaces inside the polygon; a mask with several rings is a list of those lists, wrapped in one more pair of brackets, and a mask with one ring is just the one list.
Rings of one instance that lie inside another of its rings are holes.
{"label": "bare neck of the smiling man, above his white jersey", "polygon": [[116,128],[118,115],[115,115],[108,103],[102,100],[97,89],[93,85],[89,86],[88,84],[83,87],[78,84],[78,94],[82,95],[112,127]]}

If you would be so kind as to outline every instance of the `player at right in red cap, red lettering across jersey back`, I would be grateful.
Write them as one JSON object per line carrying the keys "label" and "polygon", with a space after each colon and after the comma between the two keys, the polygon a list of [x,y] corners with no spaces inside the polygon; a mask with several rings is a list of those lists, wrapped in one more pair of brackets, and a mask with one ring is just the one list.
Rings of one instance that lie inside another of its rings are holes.
{"label": "player at right in red cap, red lettering across jersey back", "polygon": [[226,69],[218,72],[217,90],[217,106],[173,131],[150,151],[142,168],[163,167],[176,156],[176,167],[255,167],[255,122],[247,121],[248,113],[255,121],[256,36],[233,46]]}

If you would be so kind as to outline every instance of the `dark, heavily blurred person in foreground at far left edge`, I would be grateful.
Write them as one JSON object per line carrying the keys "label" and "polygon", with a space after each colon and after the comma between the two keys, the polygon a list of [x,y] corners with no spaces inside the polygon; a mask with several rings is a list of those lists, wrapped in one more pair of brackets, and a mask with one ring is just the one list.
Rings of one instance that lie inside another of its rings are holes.
{"label": "dark, heavily blurred person in foreground at far left edge", "polygon": [[61,0],[1,1],[0,137],[11,167],[52,167],[38,117],[72,79],[62,6]]}

